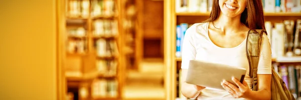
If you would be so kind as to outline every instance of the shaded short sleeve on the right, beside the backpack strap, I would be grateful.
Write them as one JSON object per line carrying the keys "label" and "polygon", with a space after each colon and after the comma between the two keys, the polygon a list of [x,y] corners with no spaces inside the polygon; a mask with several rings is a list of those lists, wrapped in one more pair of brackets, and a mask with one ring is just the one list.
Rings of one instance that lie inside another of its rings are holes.
{"label": "shaded short sleeve on the right, beside the backpack strap", "polygon": [[265,33],[262,35],[262,42],[260,48],[260,56],[258,62],[257,74],[272,74],[272,57],[271,57],[271,46],[269,38]]}

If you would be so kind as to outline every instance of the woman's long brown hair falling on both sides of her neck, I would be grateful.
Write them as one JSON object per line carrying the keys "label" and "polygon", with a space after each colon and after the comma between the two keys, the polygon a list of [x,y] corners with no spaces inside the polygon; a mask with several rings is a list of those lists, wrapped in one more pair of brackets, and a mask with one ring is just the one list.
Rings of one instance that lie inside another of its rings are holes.
{"label": "woman's long brown hair falling on both sides of her neck", "polygon": [[[261,0],[247,0],[247,8],[241,13],[240,22],[250,29],[265,29],[264,16]],[[221,9],[218,0],[213,0],[212,10],[207,20],[203,22],[215,21],[220,15]]]}

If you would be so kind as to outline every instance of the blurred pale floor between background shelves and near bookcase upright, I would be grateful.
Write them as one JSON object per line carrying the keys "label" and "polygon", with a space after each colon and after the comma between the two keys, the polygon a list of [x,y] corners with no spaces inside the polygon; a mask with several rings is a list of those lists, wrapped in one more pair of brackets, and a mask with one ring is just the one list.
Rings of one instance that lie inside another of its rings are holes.
{"label": "blurred pale floor between background shelves and near bookcase upright", "polygon": [[122,98],[124,100],[165,99],[163,68],[163,59],[144,59],[139,65],[139,70],[127,72]]}

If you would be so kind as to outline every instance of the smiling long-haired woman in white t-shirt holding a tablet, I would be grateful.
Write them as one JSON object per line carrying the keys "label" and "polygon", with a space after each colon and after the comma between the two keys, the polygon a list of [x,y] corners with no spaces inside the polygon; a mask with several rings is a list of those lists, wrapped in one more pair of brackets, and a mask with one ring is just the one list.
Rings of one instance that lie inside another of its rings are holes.
{"label": "smiling long-haired woman in white t-shirt holding a tablet", "polygon": [[232,81],[238,87],[223,81],[221,85],[225,90],[183,81],[182,94],[198,99],[270,99],[269,39],[266,34],[262,36],[257,70],[258,90],[254,91],[245,53],[246,37],[250,29],[265,29],[261,0],[213,0],[210,17],[186,30],[182,45],[181,78],[186,80],[189,61],[194,59],[245,68],[247,72],[242,83],[233,78]]}

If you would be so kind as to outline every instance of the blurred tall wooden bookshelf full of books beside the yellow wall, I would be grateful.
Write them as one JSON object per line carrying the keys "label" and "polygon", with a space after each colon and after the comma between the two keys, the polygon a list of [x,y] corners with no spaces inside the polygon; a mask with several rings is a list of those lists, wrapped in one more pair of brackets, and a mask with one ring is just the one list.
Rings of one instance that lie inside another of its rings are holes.
{"label": "blurred tall wooden bookshelf full of books beside the yellow wall", "polygon": [[[61,47],[59,52],[62,52],[60,62],[64,64],[62,64],[61,70],[62,74],[65,74],[62,75],[63,77],[60,80],[65,82],[60,84],[63,85],[62,87],[66,88],[62,89],[63,91],[60,91],[63,94],[63,98],[66,98],[67,95],[65,94],[68,94],[69,91],[77,90],[79,99],[121,99],[124,80],[123,71],[125,67],[123,64],[123,50],[121,50],[124,45],[124,30],[122,28],[123,12],[121,5],[123,5],[122,3],[124,2],[123,0],[98,0],[110,2],[103,2],[101,4],[114,5],[106,5],[107,8],[105,10],[107,11],[103,11],[104,9],[102,9],[100,12],[94,12],[94,9],[97,10],[97,8],[103,6],[98,5],[100,3],[93,4],[94,1],[96,0],[62,0],[58,3],[58,38],[61,42],[59,44]],[[70,7],[71,2],[73,3],[73,8]],[[98,7],[95,7],[94,5],[97,5]],[[108,10],[108,7],[112,9]],[[73,11],[70,11],[70,9],[73,9]],[[86,10],[83,11],[82,9]],[[83,13],[86,14],[83,15]],[[100,21],[96,26],[95,21],[98,19],[105,20],[106,23]],[[81,30],[76,30],[79,27]],[[84,35],[82,34],[83,30]],[[105,35],[95,36],[94,33],[96,30],[98,31],[98,34]],[[101,40],[98,41],[99,39]],[[81,42],[79,40],[85,41]],[[104,47],[106,47],[106,49],[98,49]],[[81,52],[78,52],[78,49],[81,49]],[[112,54],[99,53],[102,51],[110,52]],[[99,54],[104,54],[105,56],[101,57]],[[99,67],[102,69],[99,69]],[[102,81],[102,84],[107,84],[107,87],[95,87],[93,83],[98,79],[104,79],[105,82]],[[69,90],[69,88],[72,88],[72,90]],[[104,92],[107,92],[107,94],[113,93],[115,96],[93,97],[93,88],[108,88],[107,90],[111,91]],[[87,96],[81,96],[83,94],[81,94],[82,91],[80,90],[86,90],[84,92],[87,92]]]}

